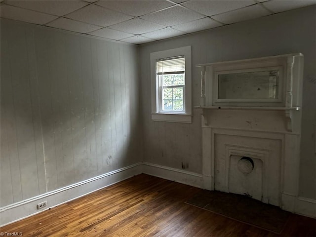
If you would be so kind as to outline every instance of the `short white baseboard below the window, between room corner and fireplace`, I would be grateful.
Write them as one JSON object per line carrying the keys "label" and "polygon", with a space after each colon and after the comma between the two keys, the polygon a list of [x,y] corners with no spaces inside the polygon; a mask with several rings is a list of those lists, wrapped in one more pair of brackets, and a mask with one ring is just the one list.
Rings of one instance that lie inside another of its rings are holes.
{"label": "short white baseboard below the window, between room corner and fireplace", "polygon": [[143,162],[143,173],[197,188],[203,188],[203,178],[201,174],[148,162]]}

